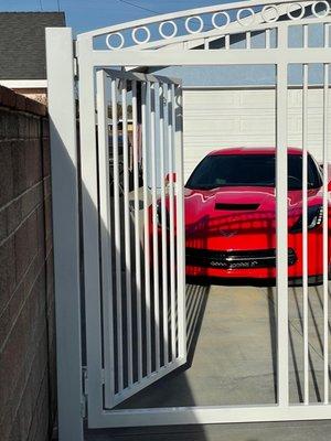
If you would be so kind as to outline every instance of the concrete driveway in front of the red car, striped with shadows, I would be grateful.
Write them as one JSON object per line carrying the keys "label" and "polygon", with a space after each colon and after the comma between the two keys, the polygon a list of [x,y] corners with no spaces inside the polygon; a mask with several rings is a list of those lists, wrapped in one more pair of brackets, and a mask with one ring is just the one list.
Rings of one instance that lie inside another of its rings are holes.
{"label": "concrete driveway in front of the red car, striped with shadows", "polygon": [[[277,401],[276,290],[188,286],[190,354],[181,370],[122,408],[224,406]],[[310,399],[323,399],[322,289],[309,288]],[[302,289],[289,289],[290,400],[303,390]],[[331,418],[331,416],[330,416]],[[93,431],[87,440],[330,440],[331,422],[225,424]]]}

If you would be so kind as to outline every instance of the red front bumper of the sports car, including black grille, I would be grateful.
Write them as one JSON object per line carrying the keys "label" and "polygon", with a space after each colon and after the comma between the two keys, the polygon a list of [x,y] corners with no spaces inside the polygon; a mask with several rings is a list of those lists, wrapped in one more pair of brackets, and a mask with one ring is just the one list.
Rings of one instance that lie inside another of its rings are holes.
{"label": "red front bumper of the sports car, including black grille", "polygon": [[[191,238],[186,239],[186,276],[264,279],[277,277],[276,235],[255,234],[249,238],[243,235],[228,240],[213,237],[204,244],[194,245]],[[330,250],[330,237],[328,248]],[[289,234],[288,277],[302,278],[302,234]],[[308,276],[322,273],[322,228],[317,228],[308,233]]]}

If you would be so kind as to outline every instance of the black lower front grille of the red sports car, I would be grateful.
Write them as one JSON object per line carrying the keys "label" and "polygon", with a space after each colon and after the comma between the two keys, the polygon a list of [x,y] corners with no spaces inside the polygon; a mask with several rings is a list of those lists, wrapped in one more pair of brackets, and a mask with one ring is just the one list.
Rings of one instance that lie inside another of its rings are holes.
{"label": "black lower front grille of the red sports car", "polygon": [[[186,265],[204,268],[220,269],[252,269],[252,268],[275,268],[276,249],[258,249],[244,251],[214,251],[200,248],[186,248]],[[288,265],[297,261],[292,248],[288,250]]]}

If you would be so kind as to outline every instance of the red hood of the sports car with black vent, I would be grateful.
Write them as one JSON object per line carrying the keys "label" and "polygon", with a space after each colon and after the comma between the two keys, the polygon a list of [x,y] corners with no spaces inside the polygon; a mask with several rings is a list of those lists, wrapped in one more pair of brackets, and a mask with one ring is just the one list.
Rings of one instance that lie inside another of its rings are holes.
{"label": "red hood of the sports car with black vent", "polygon": [[[218,187],[200,191],[185,189],[185,225],[186,230],[195,229],[199,224],[217,223],[226,229],[276,226],[276,190],[275,187]],[[320,190],[309,190],[308,204],[322,203]],[[289,227],[295,224],[302,212],[302,192],[288,192]]]}

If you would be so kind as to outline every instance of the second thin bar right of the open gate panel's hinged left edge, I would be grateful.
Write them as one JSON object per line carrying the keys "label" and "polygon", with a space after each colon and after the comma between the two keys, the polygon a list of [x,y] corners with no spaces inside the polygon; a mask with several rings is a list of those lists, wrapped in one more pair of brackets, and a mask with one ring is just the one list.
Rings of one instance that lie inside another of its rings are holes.
{"label": "second thin bar right of the open gate panel's hinged left edge", "polygon": [[127,80],[121,87],[121,120],[122,120],[122,151],[124,151],[124,214],[125,214],[125,273],[126,273],[126,306],[127,306],[127,357],[128,386],[132,385],[132,283],[131,283],[131,232],[129,206],[129,142],[128,142],[128,103]]}

